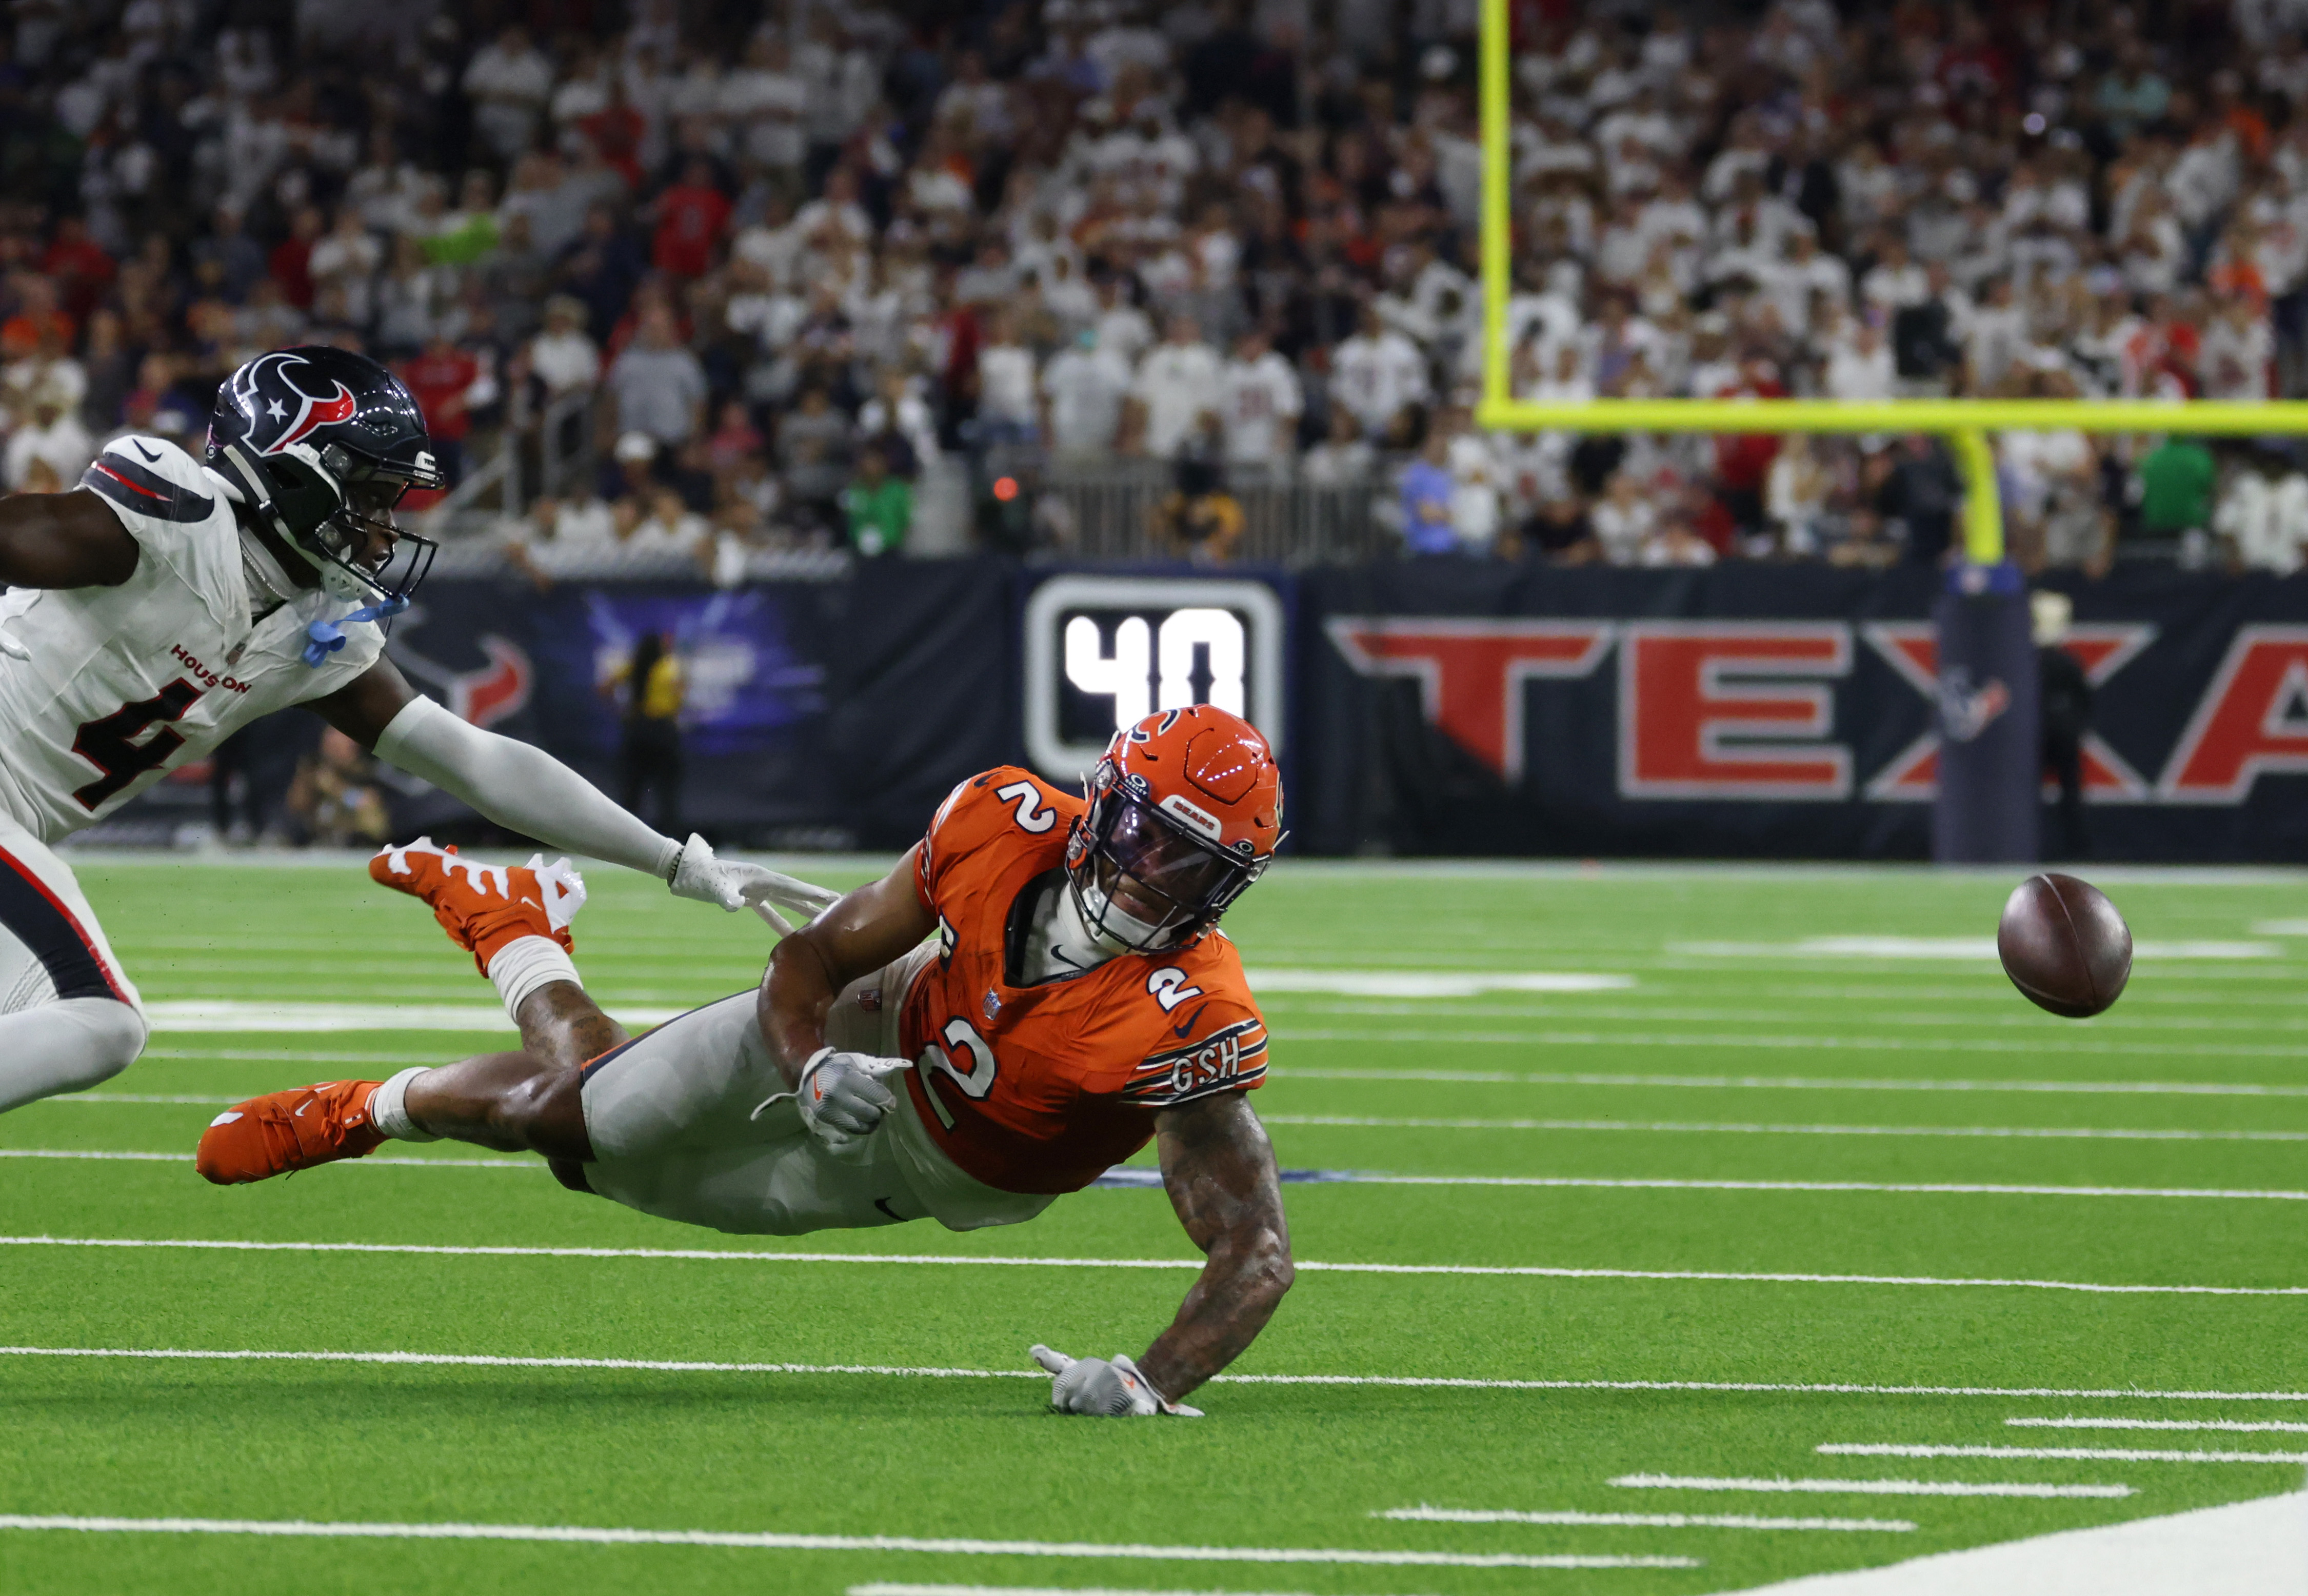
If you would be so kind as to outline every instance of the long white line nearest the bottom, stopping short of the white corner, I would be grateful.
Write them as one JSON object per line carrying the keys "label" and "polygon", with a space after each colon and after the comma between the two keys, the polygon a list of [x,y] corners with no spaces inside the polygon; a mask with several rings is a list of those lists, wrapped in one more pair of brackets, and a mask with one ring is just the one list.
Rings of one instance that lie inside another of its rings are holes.
{"label": "long white line nearest the bottom, stopping short of the white corner", "polygon": [[789,1536],[732,1529],[591,1529],[582,1525],[346,1525],[265,1518],[67,1518],[0,1513],[0,1529],[83,1534],[316,1536],[349,1541],[584,1541],[593,1545],[729,1545],[764,1552],[942,1552],[979,1557],[1115,1557],[1191,1564],[1378,1564],[1394,1568],[1701,1568],[1696,1557],[1526,1557],[1521,1552],[1380,1552],[1313,1545],[1106,1545],[923,1536]]}

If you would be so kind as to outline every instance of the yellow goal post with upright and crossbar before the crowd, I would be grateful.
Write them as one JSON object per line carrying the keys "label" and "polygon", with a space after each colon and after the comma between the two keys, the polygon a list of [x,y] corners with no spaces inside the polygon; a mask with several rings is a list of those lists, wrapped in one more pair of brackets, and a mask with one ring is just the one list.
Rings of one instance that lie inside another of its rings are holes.
{"label": "yellow goal post with upright and crossbar before the crowd", "polygon": [[1482,0],[1482,399],[1493,431],[1833,431],[1939,434],[1964,475],[1964,556],[2003,558],[2003,512],[1989,431],[2308,434],[2308,401],[2269,399],[1516,399],[1507,376],[1514,293],[1514,138],[1507,0]]}

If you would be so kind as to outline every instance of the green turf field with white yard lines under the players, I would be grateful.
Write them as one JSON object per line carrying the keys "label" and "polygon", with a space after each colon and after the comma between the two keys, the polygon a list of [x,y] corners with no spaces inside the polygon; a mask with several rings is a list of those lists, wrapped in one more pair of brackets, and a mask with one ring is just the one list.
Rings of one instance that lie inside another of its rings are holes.
{"label": "green turf field with white yard lines under the players", "polygon": [[[275,1006],[443,1026],[494,994],[422,906],[346,863],[81,874],[145,999],[178,1006],[157,1012],[249,1003],[205,1022],[265,1029],[162,1029],[104,1091],[0,1121],[12,1594],[1722,1591],[2301,1485],[2301,876],[2110,874],[2142,943],[2133,987],[2061,1022],[1978,957],[2008,879],[1279,867],[1228,927],[1279,973],[1256,1102],[1281,1160],[1426,1179],[1288,1188],[1299,1285],[1191,1423],[1052,1418],[1022,1377],[1034,1340],[1138,1352],[1168,1322],[1193,1255],[1159,1190],[976,1236],[775,1241],[452,1144],[208,1188],[189,1153],[224,1102],[492,1045],[272,1029],[328,1017]],[[750,918],[612,869],[591,886],[577,957],[612,1010],[757,978]],[[1620,980],[1447,980],[1468,971]],[[305,1245],[157,1245],[192,1241]],[[129,1356],[155,1352],[443,1361]],[[2264,1428],[2010,1423],[2068,1416]],[[1646,1476],[1932,1490],[1629,1483]],[[1389,1518],[1422,1506],[1442,1513]],[[1447,1515],[1466,1511],[1782,1527]]]}

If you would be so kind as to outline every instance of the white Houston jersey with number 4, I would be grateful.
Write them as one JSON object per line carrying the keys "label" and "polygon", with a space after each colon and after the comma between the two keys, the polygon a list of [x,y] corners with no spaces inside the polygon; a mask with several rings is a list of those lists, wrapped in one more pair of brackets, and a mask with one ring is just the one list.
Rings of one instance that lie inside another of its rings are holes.
{"label": "white Houston jersey with number 4", "polygon": [[0,593],[0,810],[55,844],[203,759],[258,715],[376,664],[383,630],[305,664],[307,627],[355,609],[309,590],[249,618],[240,528],[219,484],[164,438],[115,438],[81,477],[136,540],[118,588]]}

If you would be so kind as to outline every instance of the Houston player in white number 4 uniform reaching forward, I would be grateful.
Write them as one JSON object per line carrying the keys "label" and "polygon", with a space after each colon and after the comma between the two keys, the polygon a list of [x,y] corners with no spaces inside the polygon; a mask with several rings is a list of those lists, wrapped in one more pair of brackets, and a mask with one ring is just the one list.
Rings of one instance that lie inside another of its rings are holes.
{"label": "Houston player in white number 4 uniform reaching forward", "polygon": [[679,897],[831,902],[715,860],[702,837],[660,837],[402,680],[379,623],[406,609],[434,544],[392,507],[441,484],[390,371],[286,348],[217,390],[205,466],[118,438],[78,491],[0,500],[0,1112],[95,1086],[145,1042],[136,987],[51,846],[291,703],[501,826]]}

